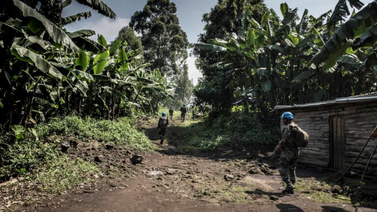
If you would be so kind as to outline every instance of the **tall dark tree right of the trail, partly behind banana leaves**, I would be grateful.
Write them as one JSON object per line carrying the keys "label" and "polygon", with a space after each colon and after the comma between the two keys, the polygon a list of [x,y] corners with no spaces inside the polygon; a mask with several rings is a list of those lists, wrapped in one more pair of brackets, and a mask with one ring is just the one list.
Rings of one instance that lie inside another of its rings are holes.
{"label": "tall dark tree right of the trail, partly behind banana leaves", "polygon": [[[199,34],[198,43],[208,43],[215,38],[229,40],[238,34],[246,11],[260,22],[267,7],[263,0],[218,0],[215,7],[203,15],[205,32]],[[196,56],[195,64],[203,76],[195,89],[195,96],[212,105],[214,110],[229,110],[234,102],[229,68],[219,70],[211,67],[224,58],[225,53],[194,48],[192,54]]]}

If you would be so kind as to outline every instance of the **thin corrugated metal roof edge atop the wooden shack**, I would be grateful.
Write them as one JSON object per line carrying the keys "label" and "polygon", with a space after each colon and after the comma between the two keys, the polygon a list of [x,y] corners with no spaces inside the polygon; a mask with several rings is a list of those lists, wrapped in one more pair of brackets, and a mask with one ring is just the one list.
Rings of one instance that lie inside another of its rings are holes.
{"label": "thin corrugated metal roof edge atop the wooden shack", "polygon": [[363,94],[353,97],[344,97],[344,98],[336,98],[335,100],[324,101],[324,102],[316,102],[316,103],[306,103],[294,106],[275,106],[274,109],[295,109],[295,108],[310,108],[310,107],[317,107],[317,106],[330,106],[330,105],[337,105],[337,104],[345,104],[345,103],[357,103],[357,102],[373,102],[377,101],[377,92]]}

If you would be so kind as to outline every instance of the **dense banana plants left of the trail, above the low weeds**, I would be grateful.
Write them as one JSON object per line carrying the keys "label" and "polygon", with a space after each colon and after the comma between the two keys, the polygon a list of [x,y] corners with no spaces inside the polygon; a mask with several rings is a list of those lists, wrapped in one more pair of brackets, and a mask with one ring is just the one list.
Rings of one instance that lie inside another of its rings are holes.
{"label": "dense banana plants left of the trail, above the low weeds", "polygon": [[[98,42],[88,39],[92,30],[64,31],[67,19],[76,20],[61,17],[71,0],[37,2],[2,3],[0,125],[27,126],[72,111],[106,119],[135,106],[154,112],[171,97],[166,77],[148,69],[149,63],[136,62],[143,52],[127,50],[123,38],[108,45],[103,36]],[[115,18],[102,1],[78,2]]]}

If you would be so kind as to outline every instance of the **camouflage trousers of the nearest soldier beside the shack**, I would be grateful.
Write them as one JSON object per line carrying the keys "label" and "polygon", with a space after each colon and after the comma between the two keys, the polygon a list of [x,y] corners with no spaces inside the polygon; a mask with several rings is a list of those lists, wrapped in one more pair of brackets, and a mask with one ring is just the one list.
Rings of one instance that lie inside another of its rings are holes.
{"label": "camouflage trousers of the nearest soldier beside the shack", "polygon": [[279,172],[285,183],[296,182],[296,166],[300,151],[298,148],[284,148],[279,159]]}

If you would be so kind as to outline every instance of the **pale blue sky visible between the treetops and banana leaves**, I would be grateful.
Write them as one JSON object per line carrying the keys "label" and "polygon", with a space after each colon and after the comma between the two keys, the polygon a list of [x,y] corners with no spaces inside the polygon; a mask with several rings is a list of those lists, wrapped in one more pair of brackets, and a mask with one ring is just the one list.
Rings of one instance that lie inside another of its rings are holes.
{"label": "pale blue sky visible between the treetops and banana leaves", "polygon": [[[118,34],[118,31],[129,24],[131,16],[135,11],[142,10],[147,0],[103,0],[116,13],[115,20],[107,18],[89,7],[77,3],[75,0],[72,4],[63,10],[63,17],[75,15],[77,13],[91,11],[92,17],[68,25],[68,31],[73,32],[80,29],[92,29],[98,34],[104,35],[107,41],[112,41]],[[180,25],[188,35],[190,43],[196,43],[197,36],[203,32],[204,23],[202,15],[215,6],[217,0],[170,0],[177,6],[177,16]],[[278,15],[280,12],[280,3],[287,2],[289,7],[298,8],[298,14],[301,16],[305,8],[309,10],[309,15],[319,17],[329,9],[333,9],[338,0],[265,0],[268,8],[272,8]],[[365,4],[369,1],[362,0]],[[95,39],[93,36],[92,39]],[[188,50],[189,51],[189,50]],[[195,58],[188,58],[188,75],[193,79],[194,84],[201,76],[200,71],[194,64]]]}

